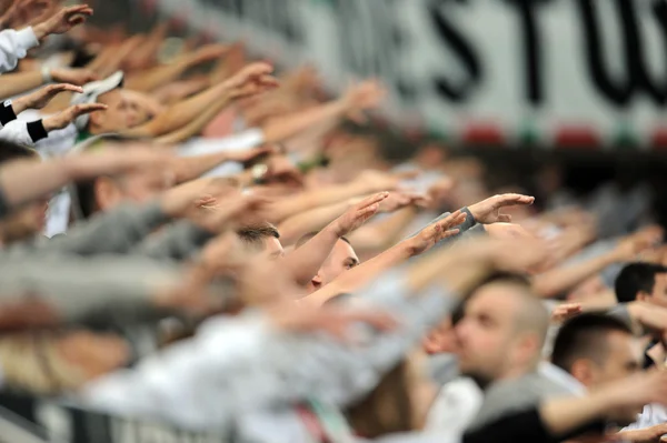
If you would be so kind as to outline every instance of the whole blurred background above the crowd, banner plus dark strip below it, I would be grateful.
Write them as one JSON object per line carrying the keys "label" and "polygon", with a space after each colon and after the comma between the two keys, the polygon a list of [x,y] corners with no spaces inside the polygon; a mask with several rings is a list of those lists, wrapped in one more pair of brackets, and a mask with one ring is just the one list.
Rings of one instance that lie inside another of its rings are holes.
{"label": "whole blurred background above the crowd, banner plus dark strip below it", "polygon": [[[387,155],[434,139],[492,165],[495,188],[614,183],[667,222],[665,0],[115,0],[100,24],[242,40],[279,69],[316,66],[330,92],[377,75]],[[166,53],[169,50],[166,49]]]}

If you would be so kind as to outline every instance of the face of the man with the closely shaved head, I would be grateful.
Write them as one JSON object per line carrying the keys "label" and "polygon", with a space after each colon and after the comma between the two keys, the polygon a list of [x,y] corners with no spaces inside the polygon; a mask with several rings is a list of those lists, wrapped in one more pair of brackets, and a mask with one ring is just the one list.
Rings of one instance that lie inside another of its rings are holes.
{"label": "face of the man with the closely shaved head", "polygon": [[501,377],[511,363],[518,301],[508,291],[495,284],[480,288],[455,329],[460,371],[481,386]]}

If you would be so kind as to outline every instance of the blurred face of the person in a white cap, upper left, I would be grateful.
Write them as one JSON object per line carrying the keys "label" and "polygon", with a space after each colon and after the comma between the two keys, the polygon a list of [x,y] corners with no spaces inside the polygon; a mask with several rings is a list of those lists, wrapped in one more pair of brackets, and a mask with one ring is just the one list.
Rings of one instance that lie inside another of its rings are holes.
{"label": "blurred face of the person in a white cap, upper left", "polygon": [[137,125],[139,119],[137,109],[130,105],[120,89],[98,97],[97,102],[106,104],[108,109],[90,114],[90,132],[93,135],[119,132]]}

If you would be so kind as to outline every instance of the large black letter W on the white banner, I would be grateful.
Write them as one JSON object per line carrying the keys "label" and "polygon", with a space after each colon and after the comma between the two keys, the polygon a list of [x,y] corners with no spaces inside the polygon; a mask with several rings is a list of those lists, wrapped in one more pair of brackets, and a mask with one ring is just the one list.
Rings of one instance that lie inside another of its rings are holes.
{"label": "large black letter W on the white banner", "polygon": [[[587,64],[595,87],[607,100],[620,108],[628,107],[638,92],[645,92],[656,104],[664,107],[667,103],[667,72],[663,75],[663,84],[654,81],[648,72],[636,3],[633,0],[609,1],[614,1],[623,27],[624,54],[621,57],[627,67],[625,80],[614,80],[607,70],[604,60],[606,51],[599,31],[598,3],[596,0],[576,2],[579,6],[581,27],[586,36]],[[664,49],[667,48],[667,19],[664,17],[666,10],[663,0],[654,2],[654,13],[660,27]]]}

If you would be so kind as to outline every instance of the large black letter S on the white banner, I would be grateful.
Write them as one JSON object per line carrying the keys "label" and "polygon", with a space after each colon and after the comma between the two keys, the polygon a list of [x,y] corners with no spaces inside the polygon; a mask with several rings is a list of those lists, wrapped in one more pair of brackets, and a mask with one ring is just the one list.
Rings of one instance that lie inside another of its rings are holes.
{"label": "large black letter S on the white banner", "polygon": [[434,81],[436,90],[440,95],[455,102],[464,102],[482,81],[484,69],[472,44],[464,38],[460,31],[447,18],[447,8],[445,6],[452,2],[460,4],[469,3],[468,0],[431,0],[428,2],[428,13],[438,37],[442,43],[450,47],[455,52],[462,68],[467,71],[468,79],[459,84],[454,84],[451,80],[440,74]]}

